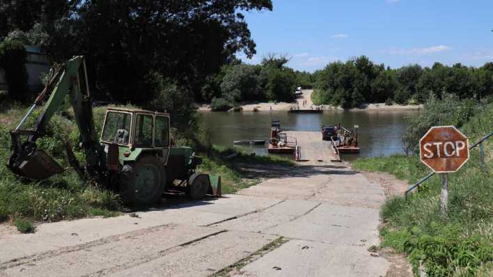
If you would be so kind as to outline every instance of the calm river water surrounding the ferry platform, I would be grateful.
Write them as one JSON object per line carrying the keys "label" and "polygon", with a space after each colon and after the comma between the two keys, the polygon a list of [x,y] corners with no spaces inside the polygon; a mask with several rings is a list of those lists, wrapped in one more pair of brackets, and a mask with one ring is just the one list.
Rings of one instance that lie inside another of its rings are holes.
{"label": "calm river water surrounding the ferry platform", "polygon": [[[281,121],[281,128],[292,131],[320,132],[324,124],[352,129],[359,125],[358,143],[361,153],[344,155],[343,159],[377,157],[403,153],[402,134],[409,120],[419,111],[324,111],[324,113],[288,113],[287,111],[258,112],[201,112],[201,122],[208,130],[212,143],[233,145],[242,139],[269,139],[273,119]],[[242,146],[249,152],[267,155],[266,145]]]}

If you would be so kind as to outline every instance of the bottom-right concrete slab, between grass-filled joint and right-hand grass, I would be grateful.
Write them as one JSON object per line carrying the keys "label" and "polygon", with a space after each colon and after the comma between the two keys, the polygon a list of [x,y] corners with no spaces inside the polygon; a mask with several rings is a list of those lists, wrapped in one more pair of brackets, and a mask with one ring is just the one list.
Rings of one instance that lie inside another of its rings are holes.
{"label": "bottom-right concrete slab, between grass-filled joint and right-hand grass", "polygon": [[[389,267],[366,248],[291,240],[240,269],[241,276],[384,276]],[[240,276],[240,275],[239,275]]]}

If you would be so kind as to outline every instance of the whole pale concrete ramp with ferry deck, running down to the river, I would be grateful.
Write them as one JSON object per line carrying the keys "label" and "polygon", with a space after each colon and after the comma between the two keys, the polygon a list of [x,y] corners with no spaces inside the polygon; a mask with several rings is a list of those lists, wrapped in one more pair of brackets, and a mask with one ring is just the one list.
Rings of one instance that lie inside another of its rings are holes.
{"label": "whole pale concrete ramp with ferry deck, running down to the river", "polygon": [[313,162],[245,168],[263,182],[235,195],[0,231],[0,276],[385,276],[367,250],[379,184],[330,162],[316,134],[290,135]]}

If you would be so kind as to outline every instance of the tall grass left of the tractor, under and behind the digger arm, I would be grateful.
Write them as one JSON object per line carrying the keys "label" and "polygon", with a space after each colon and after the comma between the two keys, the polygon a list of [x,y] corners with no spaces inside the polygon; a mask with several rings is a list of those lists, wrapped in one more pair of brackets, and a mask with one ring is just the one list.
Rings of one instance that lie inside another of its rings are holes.
{"label": "tall grass left of the tractor, under and behind the digger arm", "polygon": [[[24,232],[30,230],[26,226],[32,221],[51,222],[119,214],[123,206],[117,194],[82,183],[71,169],[46,180],[29,181],[17,177],[6,167],[10,156],[8,132],[17,125],[26,110],[14,105],[0,113],[0,222],[15,223],[19,231]],[[101,129],[104,110],[99,107],[94,109],[97,132]],[[40,110],[36,110],[22,128],[33,127],[39,115]],[[79,159],[84,159],[78,146],[79,131],[72,118],[70,110],[56,113],[47,125],[47,135],[38,139],[37,143],[39,149],[45,150],[64,168],[69,166],[63,146],[65,141],[72,145]]]}

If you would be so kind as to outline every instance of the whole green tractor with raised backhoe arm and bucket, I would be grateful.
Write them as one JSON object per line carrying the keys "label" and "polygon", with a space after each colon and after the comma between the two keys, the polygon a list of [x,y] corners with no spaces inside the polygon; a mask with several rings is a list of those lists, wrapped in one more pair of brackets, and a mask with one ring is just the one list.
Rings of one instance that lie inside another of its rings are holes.
{"label": "whole green tractor with raised backhoe arm and bucket", "polygon": [[[20,129],[50,91],[35,127]],[[208,193],[221,196],[220,177],[195,172],[202,158],[194,155],[189,147],[171,145],[167,113],[108,108],[100,139],[94,139],[91,95],[82,56],[52,70],[45,89],[10,132],[12,155],[8,167],[17,175],[40,180],[63,172],[52,157],[37,149],[36,140],[44,134],[47,122],[66,95],[70,95],[86,164],[79,165],[68,143],[67,156],[81,179],[118,191],[135,206],[157,203],[165,191],[180,191],[193,199],[203,198]]]}

